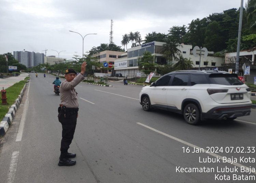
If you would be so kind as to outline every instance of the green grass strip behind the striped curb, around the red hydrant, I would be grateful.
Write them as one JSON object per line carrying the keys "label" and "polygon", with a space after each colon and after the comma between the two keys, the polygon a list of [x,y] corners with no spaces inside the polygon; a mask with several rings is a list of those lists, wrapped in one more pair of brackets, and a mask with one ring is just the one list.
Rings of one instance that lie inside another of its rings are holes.
{"label": "green grass strip behind the striped curb, around the red hydrant", "polygon": [[9,108],[14,104],[16,99],[18,98],[20,92],[22,91],[25,83],[27,80],[22,80],[17,83],[15,83],[13,86],[8,87],[5,89],[6,91],[6,98],[7,98],[7,104],[0,104],[0,119],[2,121],[3,117],[6,115],[6,113],[9,111]]}

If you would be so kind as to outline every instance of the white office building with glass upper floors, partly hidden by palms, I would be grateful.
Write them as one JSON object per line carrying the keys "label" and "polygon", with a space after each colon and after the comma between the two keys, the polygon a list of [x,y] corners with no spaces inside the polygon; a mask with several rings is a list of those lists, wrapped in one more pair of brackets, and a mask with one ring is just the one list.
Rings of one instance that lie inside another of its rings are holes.
{"label": "white office building with glass upper floors, partly hidden by palms", "polygon": [[[127,53],[122,55],[122,58],[115,59],[115,73],[121,73],[123,76],[132,76],[137,75],[137,73],[140,73],[138,69],[138,61],[140,57],[143,56],[143,53],[145,51],[151,52],[153,55],[155,55],[155,63],[160,65],[167,64],[166,59],[163,57],[163,54],[161,53],[164,44],[166,43],[154,41],[133,48],[129,48],[127,50]],[[199,67],[200,57],[195,57],[193,55],[192,45],[180,44],[178,48],[181,50],[182,56],[184,58],[190,58],[190,60],[194,63],[194,67]],[[213,52],[208,51],[208,56],[206,58],[201,57],[200,68],[209,67],[210,69],[213,69],[215,67],[221,67],[221,64],[224,63],[225,58],[214,57],[212,55]],[[177,61],[172,62],[172,64],[175,63],[177,63]]]}

